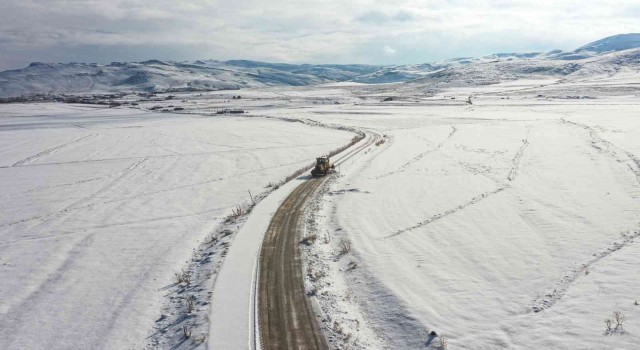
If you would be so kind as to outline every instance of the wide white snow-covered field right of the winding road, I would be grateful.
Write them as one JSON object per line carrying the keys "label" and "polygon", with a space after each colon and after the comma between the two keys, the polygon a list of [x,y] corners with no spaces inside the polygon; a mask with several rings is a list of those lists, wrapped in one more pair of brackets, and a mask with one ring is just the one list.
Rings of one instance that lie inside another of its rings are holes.
{"label": "wide white snow-covered field right of the winding road", "polygon": [[[338,347],[437,347],[434,330],[455,349],[637,348],[640,99],[503,91],[310,113],[389,138],[310,218],[330,242],[308,249],[308,283]],[[614,311],[624,333],[604,335]]]}

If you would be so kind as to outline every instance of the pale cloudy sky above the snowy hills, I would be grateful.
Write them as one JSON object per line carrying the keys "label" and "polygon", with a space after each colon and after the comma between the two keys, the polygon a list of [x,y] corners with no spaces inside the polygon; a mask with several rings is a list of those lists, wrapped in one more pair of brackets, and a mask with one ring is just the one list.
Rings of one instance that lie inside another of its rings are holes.
{"label": "pale cloudy sky above the snowy hills", "polygon": [[421,63],[640,32],[638,0],[0,0],[0,70],[30,62]]}

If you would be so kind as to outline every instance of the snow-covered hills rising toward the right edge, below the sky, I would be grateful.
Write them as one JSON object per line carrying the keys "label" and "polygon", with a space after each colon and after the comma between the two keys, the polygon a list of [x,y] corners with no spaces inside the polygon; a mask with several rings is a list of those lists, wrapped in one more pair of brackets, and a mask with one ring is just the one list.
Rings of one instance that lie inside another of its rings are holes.
{"label": "snow-covered hills rising toward the right edge, below the sky", "polygon": [[[610,36],[574,51],[497,53],[454,58],[428,64],[382,67],[354,78],[361,83],[416,80],[439,85],[484,85],[521,78],[563,78],[576,73],[602,73],[637,68],[640,34]],[[632,50],[632,51],[629,51]],[[625,51],[625,53],[616,53]]]}

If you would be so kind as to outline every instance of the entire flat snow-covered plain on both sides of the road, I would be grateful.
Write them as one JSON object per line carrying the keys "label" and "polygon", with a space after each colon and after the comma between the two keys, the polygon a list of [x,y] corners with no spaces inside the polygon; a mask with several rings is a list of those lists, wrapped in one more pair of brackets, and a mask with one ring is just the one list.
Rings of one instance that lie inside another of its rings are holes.
{"label": "entire flat snow-covered plain on both sides of the road", "polygon": [[[289,118],[385,135],[343,163],[308,212],[306,283],[335,348],[636,349],[637,77],[164,102],[252,118],[1,106],[0,347],[147,344],[164,287],[247,190],[353,136],[273,120]],[[259,239],[260,227],[245,229]],[[339,254],[343,239],[351,250]],[[246,259],[250,273],[255,252]],[[626,320],[607,335],[614,311]],[[221,320],[208,312],[213,338]]]}

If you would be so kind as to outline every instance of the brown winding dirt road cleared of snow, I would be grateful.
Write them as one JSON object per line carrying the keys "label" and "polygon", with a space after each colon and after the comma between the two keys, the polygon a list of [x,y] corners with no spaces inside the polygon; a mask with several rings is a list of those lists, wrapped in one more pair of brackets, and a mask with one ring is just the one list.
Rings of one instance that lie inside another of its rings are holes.
{"label": "brown winding dirt road cleared of snow", "polygon": [[[364,142],[345,151],[340,165],[380,140],[367,134]],[[306,205],[329,176],[309,178],[282,202],[267,229],[258,272],[259,347],[262,349],[328,349],[304,288],[300,239]]]}

